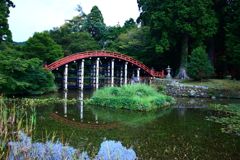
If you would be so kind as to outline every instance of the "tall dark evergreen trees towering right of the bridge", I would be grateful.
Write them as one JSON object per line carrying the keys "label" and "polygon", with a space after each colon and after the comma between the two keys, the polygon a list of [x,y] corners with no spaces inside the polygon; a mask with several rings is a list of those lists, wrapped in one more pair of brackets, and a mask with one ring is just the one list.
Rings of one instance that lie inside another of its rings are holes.
{"label": "tall dark evergreen trees towering right of the bridge", "polygon": [[[188,55],[198,47],[208,52],[215,73],[222,72],[226,76],[227,65],[230,65],[239,76],[239,0],[137,2],[141,10],[138,22],[150,27],[155,54],[174,52],[178,59],[177,63],[171,64],[179,70],[176,78],[189,78],[186,70],[191,59]],[[215,62],[214,53],[219,53]]]}

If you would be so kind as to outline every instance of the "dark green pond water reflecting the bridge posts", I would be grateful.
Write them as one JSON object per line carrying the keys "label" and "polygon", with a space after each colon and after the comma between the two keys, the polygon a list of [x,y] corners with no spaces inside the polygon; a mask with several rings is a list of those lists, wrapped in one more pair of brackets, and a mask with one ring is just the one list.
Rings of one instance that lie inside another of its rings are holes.
{"label": "dark green pond water reflecting the bridge posts", "polygon": [[[69,90],[34,98],[82,100],[91,94]],[[171,107],[151,112],[89,106],[82,101],[56,104],[38,109],[33,141],[55,134],[61,143],[80,149],[86,159],[239,159],[240,136],[221,133],[221,124],[206,120],[219,114],[207,109],[215,103],[239,104],[240,100],[176,98]]]}

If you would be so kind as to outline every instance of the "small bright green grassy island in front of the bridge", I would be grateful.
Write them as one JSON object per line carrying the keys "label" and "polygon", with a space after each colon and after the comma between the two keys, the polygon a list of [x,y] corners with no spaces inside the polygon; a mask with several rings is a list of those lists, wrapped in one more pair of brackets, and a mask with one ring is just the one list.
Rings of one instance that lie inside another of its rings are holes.
{"label": "small bright green grassy island in front of the bridge", "polygon": [[174,103],[174,98],[158,93],[145,85],[126,85],[122,87],[104,87],[93,93],[87,104],[138,111],[150,111]]}

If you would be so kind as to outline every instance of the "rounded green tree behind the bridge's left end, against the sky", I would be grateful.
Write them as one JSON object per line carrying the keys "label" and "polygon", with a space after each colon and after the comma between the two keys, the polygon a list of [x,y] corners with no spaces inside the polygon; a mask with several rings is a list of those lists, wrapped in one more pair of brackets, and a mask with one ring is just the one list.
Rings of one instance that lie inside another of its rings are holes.
{"label": "rounded green tree behind the bridge's left end, against the sky", "polygon": [[61,46],[54,42],[47,31],[35,32],[33,37],[26,41],[24,46],[26,58],[39,58],[40,60],[52,63],[63,58]]}

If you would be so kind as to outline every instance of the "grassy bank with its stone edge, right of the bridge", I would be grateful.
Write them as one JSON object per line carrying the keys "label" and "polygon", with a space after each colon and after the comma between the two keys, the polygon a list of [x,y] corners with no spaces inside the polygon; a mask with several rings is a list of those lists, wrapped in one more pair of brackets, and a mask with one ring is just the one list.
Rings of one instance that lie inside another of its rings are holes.
{"label": "grassy bank with its stone edge, right of the bridge", "polygon": [[[158,87],[158,90],[160,89],[160,92],[167,91],[169,95],[175,94],[175,96],[194,96],[190,93],[193,90],[196,97],[240,98],[240,81],[234,82],[229,79],[208,79],[202,82],[192,79],[155,79],[153,84]],[[174,93],[176,88],[166,90],[167,84],[180,86],[179,92]],[[181,88],[181,86],[186,86],[187,89]]]}

